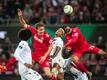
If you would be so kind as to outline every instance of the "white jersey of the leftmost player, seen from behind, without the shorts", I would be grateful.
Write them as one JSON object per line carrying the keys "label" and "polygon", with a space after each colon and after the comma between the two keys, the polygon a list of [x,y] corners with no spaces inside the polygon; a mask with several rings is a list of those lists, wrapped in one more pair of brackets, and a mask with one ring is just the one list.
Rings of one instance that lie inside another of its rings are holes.
{"label": "white jersey of the leftmost player, seen from behind, without the shorts", "polygon": [[26,41],[21,41],[15,50],[14,56],[18,61],[19,73],[23,73],[26,69],[24,63],[32,65],[31,49]]}

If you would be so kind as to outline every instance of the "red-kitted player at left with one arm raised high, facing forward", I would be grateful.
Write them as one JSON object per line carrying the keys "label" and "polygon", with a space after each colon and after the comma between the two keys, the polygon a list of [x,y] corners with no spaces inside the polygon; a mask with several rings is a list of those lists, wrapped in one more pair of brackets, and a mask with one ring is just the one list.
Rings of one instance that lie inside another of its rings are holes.
{"label": "red-kitted player at left with one arm raised high, facing forward", "polygon": [[[19,21],[21,25],[32,32],[33,49],[34,49],[34,52],[32,53],[33,62],[38,62],[42,67],[43,71],[45,72],[45,74],[53,80],[54,75],[51,73],[50,65],[49,65],[49,54],[52,49],[52,46],[51,46],[52,39],[45,32],[44,24],[37,23],[36,28],[33,28],[30,25],[27,25],[22,16],[22,11],[20,9],[18,9],[18,16],[19,16]],[[10,62],[7,64],[8,66],[6,65],[5,68],[10,67],[13,63],[15,63],[15,61],[16,59],[12,58]]]}

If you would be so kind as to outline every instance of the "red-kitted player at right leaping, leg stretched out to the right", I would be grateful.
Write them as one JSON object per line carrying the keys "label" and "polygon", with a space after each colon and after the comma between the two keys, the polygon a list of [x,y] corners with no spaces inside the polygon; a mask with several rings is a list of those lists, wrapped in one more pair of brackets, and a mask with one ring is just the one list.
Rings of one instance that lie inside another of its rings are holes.
{"label": "red-kitted player at right leaping, leg stretched out to the right", "polygon": [[94,53],[99,54],[103,56],[107,56],[107,53],[103,50],[90,45],[84,38],[84,36],[81,34],[80,30],[78,28],[65,28],[65,38],[66,38],[66,44],[64,47],[71,47],[73,50],[72,54],[72,61],[84,72],[89,74],[85,70],[85,67],[79,62],[79,59],[82,55],[85,53]]}

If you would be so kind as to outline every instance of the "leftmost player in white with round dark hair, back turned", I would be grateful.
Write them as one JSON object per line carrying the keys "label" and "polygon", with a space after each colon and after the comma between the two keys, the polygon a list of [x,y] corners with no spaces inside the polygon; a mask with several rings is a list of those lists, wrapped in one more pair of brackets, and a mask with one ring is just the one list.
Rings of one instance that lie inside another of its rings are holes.
{"label": "leftmost player in white with round dark hair, back turned", "polygon": [[18,70],[22,80],[42,80],[40,74],[31,69],[32,55],[28,44],[31,32],[28,29],[21,29],[18,38],[21,40],[15,50],[14,56],[18,61]]}

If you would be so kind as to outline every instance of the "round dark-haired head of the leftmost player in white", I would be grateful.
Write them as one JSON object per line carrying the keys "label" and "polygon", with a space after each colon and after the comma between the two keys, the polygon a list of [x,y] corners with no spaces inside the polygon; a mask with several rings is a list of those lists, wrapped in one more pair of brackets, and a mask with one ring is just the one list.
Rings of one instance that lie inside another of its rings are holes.
{"label": "round dark-haired head of the leftmost player in white", "polygon": [[18,38],[19,38],[20,40],[25,40],[25,41],[27,41],[31,36],[32,36],[32,33],[31,33],[31,31],[28,30],[28,29],[21,29],[21,30],[19,30],[19,32],[18,32]]}

